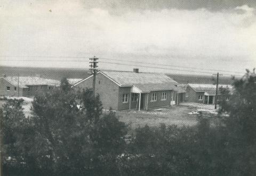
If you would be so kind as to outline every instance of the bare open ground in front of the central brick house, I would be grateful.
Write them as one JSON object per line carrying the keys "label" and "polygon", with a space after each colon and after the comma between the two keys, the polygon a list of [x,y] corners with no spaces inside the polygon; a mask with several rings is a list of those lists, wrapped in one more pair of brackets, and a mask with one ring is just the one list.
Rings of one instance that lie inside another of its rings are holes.
{"label": "bare open ground in front of the central brick house", "polygon": [[[218,109],[218,108],[217,108]],[[218,114],[214,105],[205,105],[199,103],[182,103],[179,106],[157,108],[148,111],[117,111],[119,120],[129,124],[132,129],[144,127],[146,124],[150,127],[157,127],[161,123],[165,125],[191,126],[197,124],[198,114],[213,118]]]}

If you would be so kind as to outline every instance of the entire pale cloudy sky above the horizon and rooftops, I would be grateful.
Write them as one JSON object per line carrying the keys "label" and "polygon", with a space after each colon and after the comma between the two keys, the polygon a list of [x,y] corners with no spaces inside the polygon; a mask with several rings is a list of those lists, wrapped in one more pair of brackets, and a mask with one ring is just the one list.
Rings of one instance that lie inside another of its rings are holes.
{"label": "entire pale cloudy sky above the horizon and rooftops", "polygon": [[95,55],[99,69],[241,75],[256,67],[255,9],[250,0],[2,0],[0,65],[88,69]]}

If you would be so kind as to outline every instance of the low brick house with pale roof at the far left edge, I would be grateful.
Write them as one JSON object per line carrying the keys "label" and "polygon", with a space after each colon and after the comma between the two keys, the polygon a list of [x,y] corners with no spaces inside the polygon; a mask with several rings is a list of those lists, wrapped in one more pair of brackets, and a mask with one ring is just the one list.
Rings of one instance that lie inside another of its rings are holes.
{"label": "low brick house with pale roof at the far left edge", "polygon": [[49,92],[60,85],[60,81],[40,77],[1,77],[0,96],[33,97]]}

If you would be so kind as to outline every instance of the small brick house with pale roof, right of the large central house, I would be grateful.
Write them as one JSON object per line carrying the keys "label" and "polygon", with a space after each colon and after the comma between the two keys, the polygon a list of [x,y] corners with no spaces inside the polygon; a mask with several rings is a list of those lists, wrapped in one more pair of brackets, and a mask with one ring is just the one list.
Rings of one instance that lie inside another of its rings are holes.
{"label": "small brick house with pale roof, right of the large central house", "polygon": [[[232,86],[231,85],[218,86],[217,101],[221,100],[222,98],[225,98],[226,100],[228,100],[229,95],[221,95],[221,92],[220,92],[221,88],[228,88],[231,91]],[[186,88],[185,101],[203,103],[203,104],[214,104],[215,95],[216,95],[216,85],[189,83]]]}

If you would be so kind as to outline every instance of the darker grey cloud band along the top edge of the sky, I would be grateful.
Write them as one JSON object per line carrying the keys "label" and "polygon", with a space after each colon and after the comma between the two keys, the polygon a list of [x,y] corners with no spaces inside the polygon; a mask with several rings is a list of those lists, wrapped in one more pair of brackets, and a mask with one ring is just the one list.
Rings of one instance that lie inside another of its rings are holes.
{"label": "darker grey cloud band along the top edge of the sky", "polygon": [[85,8],[99,8],[109,10],[110,13],[123,13],[126,11],[161,11],[163,9],[197,10],[207,9],[217,12],[234,9],[237,6],[248,5],[256,7],[254,0],[86,0],[82,1]]}

